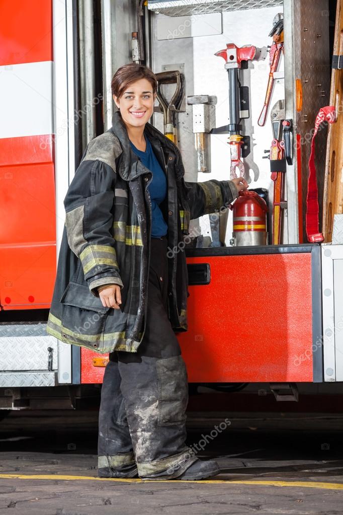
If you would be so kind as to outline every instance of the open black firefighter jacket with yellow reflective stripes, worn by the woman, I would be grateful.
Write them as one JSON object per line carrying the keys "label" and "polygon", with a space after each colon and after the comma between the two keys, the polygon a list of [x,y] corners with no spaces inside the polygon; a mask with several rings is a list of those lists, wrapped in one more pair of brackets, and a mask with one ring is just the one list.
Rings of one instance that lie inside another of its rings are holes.
{"label": "open black firefighter jacket with yellow reflective stripes, worn by the woman", "polygon": [[[151,124],[144,129],[166,171],[161,204],[168,223],[168,316],[187,331],[188,276],[183,247],[189,220],[227,207],[231,181],[185,182],[176,145]],[[90,141],[71,181],[47,332],[61,341],[107,353],[136,352],[145,331],[150,263],[151,171],[131,149],[120,112],[112,128]],[[178,249],[182,249],[177,251]],[[119,284],[119,310],[104,307],[97,288]]]}

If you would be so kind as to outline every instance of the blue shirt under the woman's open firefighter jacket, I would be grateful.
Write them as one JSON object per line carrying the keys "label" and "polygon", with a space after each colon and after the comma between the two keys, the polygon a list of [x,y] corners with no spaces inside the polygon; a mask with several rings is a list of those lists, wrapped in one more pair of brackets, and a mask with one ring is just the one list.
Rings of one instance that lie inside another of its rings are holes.
{"label": "blue shirt under the woman's open firefighter jacket", "polygon": [[148,186],[151,197],[152,209],[152,226],[151,237],[160,238],[167,234],[168,226],[165,222],[163,214],[159,208],[159,204],[164,201],[167,194],[167,178],[163,169],[160,167],[159,162],[154,154],[149,138],[146,138],[147,148],[146,151],[138,150],[135,145],[130,141],[131,148],[143,163],[143,165],[152,172],[152,181]]}

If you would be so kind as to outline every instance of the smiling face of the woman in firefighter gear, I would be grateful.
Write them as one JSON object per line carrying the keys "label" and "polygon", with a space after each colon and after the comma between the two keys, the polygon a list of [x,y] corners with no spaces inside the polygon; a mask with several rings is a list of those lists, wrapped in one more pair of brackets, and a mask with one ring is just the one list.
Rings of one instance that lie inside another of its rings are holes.
{"label": "smiling face of the woman in firefighter gear", "polygon": [[129,84],[120,98],[113,95],[123,121],[132,127],[141,127],[148,122],[154,111],[155,98],[147,79]]}

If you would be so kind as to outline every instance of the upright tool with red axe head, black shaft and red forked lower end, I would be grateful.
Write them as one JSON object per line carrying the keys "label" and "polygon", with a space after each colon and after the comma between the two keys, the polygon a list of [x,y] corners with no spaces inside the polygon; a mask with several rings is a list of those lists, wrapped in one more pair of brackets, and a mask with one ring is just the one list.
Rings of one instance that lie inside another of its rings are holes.
{"label": "upright tool with red axe head, black shaft and red forked lower end", "polygon": [[[236,168],[239,171],[239,177],[244,176],[244,164],[242,157],[246,157],[250,152],[250,138],[242,136],[241,130],[241,111],[244,110],[249,116],[249,93],[248,88],[240,87],[239,70],[242,63],[252,61],[260,55],[260,49],[256,46],[245,46],[239,48],[234,43],[228,43],[224,50],[216,52],[214,55],[223,57],[225,60],[225,70],[229,76],[229,119],[230,123],[224,127],[212,129],[212,134],[229,133],[229,141],[231,151],[231,169],[230,179],[237,177]],[[243,108],[243,109],[242,109]],[[243,145],[243,148],[241,149]],[[245,153],[244,153],[245,150]]]}

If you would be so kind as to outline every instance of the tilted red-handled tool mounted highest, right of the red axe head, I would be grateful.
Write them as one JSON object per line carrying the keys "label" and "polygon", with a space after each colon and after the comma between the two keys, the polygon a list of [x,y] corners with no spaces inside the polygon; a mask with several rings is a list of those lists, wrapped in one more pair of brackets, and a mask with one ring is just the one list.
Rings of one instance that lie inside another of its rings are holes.
{"label": "tilted red-handled tool mounted highest, right of the red axe head", "polygon": [[273,37],[273,44],[269,50],[269,79],[264,99],[264,106],[258,121],[260,127],[263,127],[265,125],[267,119],[270,99],[272,98],[275,83],[274,74],[278,70],[280,57],[283,52],[283,19],[279,20],[274,25],[272,30],[269,32],[268,36]]}

